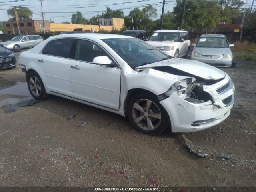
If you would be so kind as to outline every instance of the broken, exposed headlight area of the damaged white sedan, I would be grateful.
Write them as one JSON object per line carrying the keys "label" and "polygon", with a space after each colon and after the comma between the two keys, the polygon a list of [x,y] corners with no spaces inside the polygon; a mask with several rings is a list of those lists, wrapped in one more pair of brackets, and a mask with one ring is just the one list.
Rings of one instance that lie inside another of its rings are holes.
{"label": "broken, exposed headlight area of the damaged white sedan", "polygon": [[157,96],[158,100],[161,101],[170,97],[173,92],[182,98],[188,98],[190,96],[192,84],[195,80],[194,77],[191,77],[176,81],[166,92]]}

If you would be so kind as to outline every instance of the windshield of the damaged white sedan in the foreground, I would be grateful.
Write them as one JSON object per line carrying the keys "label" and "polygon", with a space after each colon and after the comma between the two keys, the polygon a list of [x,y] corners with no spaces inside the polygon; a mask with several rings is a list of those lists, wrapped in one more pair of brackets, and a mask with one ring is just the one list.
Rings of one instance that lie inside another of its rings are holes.
{"label": "windshield of the damaged white sedan in the foreground", "polygon": [[102,39],[125,62],[138,67],[172,58],[146,42],[135,38]]}

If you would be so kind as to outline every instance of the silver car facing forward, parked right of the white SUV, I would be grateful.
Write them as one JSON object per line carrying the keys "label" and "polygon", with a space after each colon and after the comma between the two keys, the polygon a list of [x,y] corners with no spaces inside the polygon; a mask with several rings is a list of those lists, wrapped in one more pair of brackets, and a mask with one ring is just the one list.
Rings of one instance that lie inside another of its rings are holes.
{"label": "silver car facing forward, parked right of the white SUV", "polygon": [[[233,63],[233,54],[226,36],[220,34],[201,35],[196,44],[192,44],[194,50],[192,60],[198,60],[212,66],[230,67]],[[234,65],[233,65],[234,66]]]}

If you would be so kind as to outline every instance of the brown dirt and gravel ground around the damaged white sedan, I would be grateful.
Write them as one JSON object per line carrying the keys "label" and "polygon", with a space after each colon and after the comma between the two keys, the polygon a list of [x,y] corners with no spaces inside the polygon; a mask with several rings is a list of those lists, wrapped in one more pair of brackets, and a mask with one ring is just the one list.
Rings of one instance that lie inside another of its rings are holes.
{"label": "brown dirt and gravel ground around the damaged white sedan", "polygon": [[243,107],[186,134],[207,158],[190,154],[179,135],[145,135],[122,116],[57,96],[6,114],[29,93],[20,66],[1,71],[0,186],[256,186],[256,66],[235,61],[222,70]]}

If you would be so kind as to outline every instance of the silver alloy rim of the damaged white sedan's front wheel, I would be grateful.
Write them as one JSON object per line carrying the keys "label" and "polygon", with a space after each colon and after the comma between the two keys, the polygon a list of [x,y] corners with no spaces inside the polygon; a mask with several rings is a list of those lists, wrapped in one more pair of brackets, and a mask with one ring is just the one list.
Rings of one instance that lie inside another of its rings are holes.
{"label": "silver alloy rim of the damaged white sedan's front wheel", "polygon": [[132,106],[132,118],[140,128],[151,131],[160,126],[162,115],[154,102],[140,99]]}

